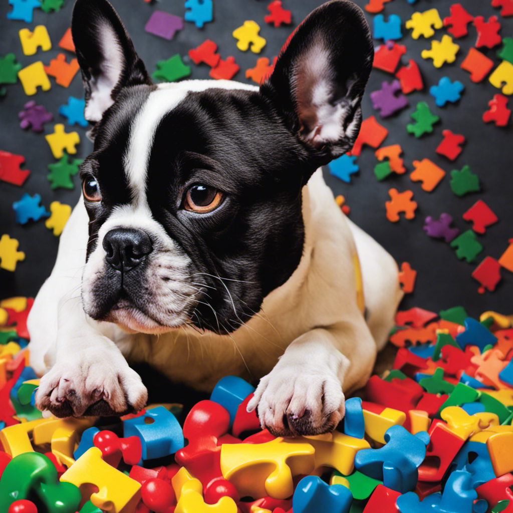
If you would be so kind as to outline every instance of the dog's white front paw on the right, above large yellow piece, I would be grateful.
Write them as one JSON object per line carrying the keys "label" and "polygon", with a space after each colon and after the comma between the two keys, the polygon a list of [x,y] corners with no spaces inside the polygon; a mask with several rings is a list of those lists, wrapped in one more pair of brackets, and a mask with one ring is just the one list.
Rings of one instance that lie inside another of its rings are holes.
{"label": "dog's white front paw on the right, above large yellow piece", "polygon": [[247,409],[255,408],[262,429],[274,436],[321,435],[344,417],[344,393],[326,369],[278,364],[260,380]]}

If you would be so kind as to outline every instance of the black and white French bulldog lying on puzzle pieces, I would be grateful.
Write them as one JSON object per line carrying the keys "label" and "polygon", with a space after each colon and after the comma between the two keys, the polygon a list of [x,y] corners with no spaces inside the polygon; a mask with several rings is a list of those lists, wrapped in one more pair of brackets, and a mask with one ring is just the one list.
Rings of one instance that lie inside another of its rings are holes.
{"label": "black and white French bulldog lying on puzzle pieces", "polygon": [[273,435],[333,430],[402,297],[396,262],[320,169],[360,129],[363,12],[315,9],[260,87],[152,84],[107,0],[77,0],[72,35],[94,149],[28,319],[37,408],[138,411],[128,361],[147,362],[203,391],[260,379],[248,411]]}

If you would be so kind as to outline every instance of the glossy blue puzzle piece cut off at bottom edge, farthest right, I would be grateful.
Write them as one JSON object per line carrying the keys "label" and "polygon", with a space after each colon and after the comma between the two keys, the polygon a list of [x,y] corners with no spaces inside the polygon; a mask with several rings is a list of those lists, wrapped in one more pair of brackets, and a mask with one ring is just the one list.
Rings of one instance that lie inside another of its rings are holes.
{"label": "glossy blue puzzle piece cut off at bottom edge, farthest right", "polygon": [[399,496],[396,504],[401,513],[471,513],[477,498],[478,493],[472,488],[470,473],[457,470],[449,476],[443,494],[437,492],[428,495],[421,502],[419,496],[410,491]]}

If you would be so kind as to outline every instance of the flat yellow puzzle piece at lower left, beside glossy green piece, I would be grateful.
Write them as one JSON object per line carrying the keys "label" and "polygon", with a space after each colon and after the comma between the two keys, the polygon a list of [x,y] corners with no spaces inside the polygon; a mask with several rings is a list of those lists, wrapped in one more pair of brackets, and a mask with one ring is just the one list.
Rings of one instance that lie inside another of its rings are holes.
{"label": "flat yellow puzzle piece at lower left, beside glossy green piece", "polygon": [[84,452],[64,472],[61,482],[78,486],[84,501],[90,500],[109,513],[133,513],[141,499],[141,484],[103,461],[97,447]]}

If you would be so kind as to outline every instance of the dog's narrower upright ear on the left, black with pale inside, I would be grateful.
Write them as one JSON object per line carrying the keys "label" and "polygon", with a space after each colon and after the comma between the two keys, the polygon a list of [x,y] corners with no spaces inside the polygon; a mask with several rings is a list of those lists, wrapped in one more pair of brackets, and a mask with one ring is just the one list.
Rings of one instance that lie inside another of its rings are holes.
{"label": "dog's narrower upright ear on the left, black with pale inside", "polygon": [[87,121],[100,121],[123,87],[151,84],[125,26],[107,0],[77,0],[71,34],[82,69]]}

